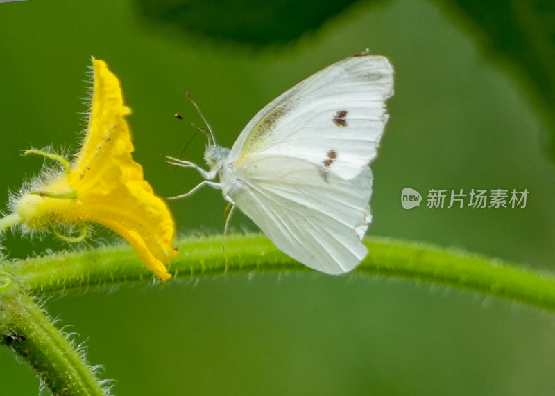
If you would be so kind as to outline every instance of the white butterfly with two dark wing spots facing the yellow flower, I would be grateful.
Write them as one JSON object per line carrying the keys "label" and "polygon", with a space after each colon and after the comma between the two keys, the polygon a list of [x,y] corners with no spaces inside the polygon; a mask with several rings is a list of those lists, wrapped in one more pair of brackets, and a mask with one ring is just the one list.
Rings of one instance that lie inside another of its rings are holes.
{"label": "white butterfly with two dark wing spots facing the yellow flower", "polygon": [[325,273],[348,272],[368,253],[361,240],[371,219],[369,163],[392,94],[385,57],[361,53],[332,64],[266,105],[231,150],[216,145],[210,130],[209,171],[169,157],[205,178],[173,198],[219,188],[232,205],[228,219],[238,206],[291,258]]}

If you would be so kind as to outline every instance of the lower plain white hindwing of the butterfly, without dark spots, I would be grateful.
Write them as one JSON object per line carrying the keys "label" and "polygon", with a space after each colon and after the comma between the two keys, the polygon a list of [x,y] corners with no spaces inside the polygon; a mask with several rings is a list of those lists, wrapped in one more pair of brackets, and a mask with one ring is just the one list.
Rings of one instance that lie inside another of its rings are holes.
{"label": "lower plain white hindwing of the butterfly, without dark spots", "polygon": [[338,274],[368,253],[370,168],[347,180],[305,159],[254,154],[231,172],[222,174],[222,186],[232,186],[224,194],[295,260]]}

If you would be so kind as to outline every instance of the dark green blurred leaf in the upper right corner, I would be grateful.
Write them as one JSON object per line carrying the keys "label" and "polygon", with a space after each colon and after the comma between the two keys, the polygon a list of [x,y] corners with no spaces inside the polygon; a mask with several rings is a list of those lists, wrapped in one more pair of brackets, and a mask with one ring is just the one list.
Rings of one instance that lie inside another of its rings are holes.
{"label": "dark green blurred leaf in the upper right corner", "polygon": [[[549,127],[555,159],[555,1],[446,0],[487,55],[509,66]],[[523,133],[531,131],[522,131]]]}

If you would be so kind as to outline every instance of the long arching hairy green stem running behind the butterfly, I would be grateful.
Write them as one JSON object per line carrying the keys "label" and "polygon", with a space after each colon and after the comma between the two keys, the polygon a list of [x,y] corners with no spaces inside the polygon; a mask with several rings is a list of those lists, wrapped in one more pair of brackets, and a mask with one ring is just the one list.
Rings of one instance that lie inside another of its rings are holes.
{"label": "long arching hairy green stem running behind the butterfly", "polygon": [[[431,282],[555,311],[552,274],[427,244],[381,238],[368,238],[365,243],[370,250],[368,257],[346,276],[366,274]],[[262,235],[189,238],[180,241],[179,252],[169,266],[177,278],[311,271],[281,253]],[[6,269],[34,295],[152,278],[127,246],[58,253],[12,262]]]}

